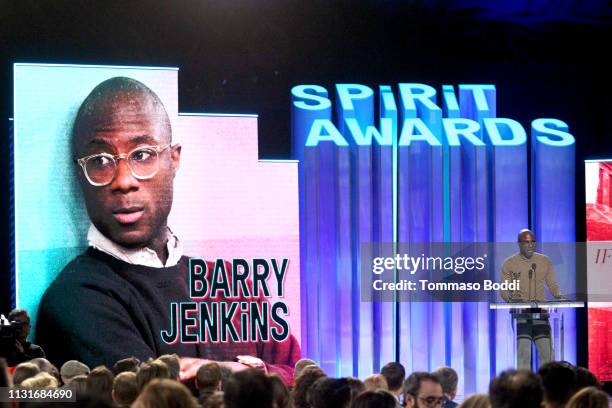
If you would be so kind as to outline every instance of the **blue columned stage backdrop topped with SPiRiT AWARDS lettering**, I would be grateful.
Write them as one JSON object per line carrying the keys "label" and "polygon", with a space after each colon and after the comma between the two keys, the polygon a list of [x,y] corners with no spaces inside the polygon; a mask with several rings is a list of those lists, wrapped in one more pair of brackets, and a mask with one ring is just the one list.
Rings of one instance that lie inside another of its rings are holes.
{"label": "blue columned stage backdrop topped with SPiRiT AWARDS lettering", "polygon": [[[476,88],[482,90],[477,98]],[[542,143],[541,122],[533,122],[531,131],[526,124],[521,134],[514,129],[508,143],[510,127],[501,126],[496,145],[482,130],[475,133],[478,140],[461,136],[454,146],[440,137],[448,133],[442,118],[471,119],[483,129],[486,118],[497,117],[496,92],[490,84],[293,88],[302,346],[328,373],[363,378],[395,360],[408,372],[449,365],[459,373],[459,394],[469,395],[486,392],[496,373],[515,366],[507,310],[491,311],[487,303],[368,303],[360,297],[360,256],[368,243],[515,243],[518,231],[529,227],[540,242],[574,242],[573,137]],[[409,94],[420,97],[405,98]],[[424,126],[405,124],[415,118]],[[475,126],[464,123],[464,129]],[[550,123],[568,130],[561,121]],[[402,138],[412,143],[400,145]],[[569,269],[557,276],[567,278],[560,282],[565,293],[575,293],[569,257]],[[503,259],[494,262],[500,270]],[[575,362],[575,313],[563,313],[565,345],[557,351]]]}

